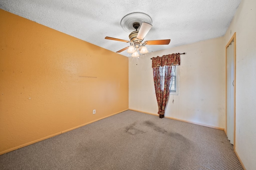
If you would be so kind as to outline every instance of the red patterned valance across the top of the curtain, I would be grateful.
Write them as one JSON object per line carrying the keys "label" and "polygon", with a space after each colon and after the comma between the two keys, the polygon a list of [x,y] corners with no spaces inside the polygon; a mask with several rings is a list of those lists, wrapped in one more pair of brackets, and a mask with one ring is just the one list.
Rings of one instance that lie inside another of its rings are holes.
{"label": "red patterned valance across the top of the curtain", "polygon": [[180,53],[172,53],[168,55],[163,55],[162,57],[153,57],[152,58],[152,68],[158,66],[174,66],[180,65]]}

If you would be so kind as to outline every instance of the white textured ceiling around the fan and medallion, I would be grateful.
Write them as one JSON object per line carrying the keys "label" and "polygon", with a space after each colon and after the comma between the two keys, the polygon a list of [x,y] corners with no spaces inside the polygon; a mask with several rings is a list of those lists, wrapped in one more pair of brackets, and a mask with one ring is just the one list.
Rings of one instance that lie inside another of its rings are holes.
{"label": "white textured ceiling around the fan and medallion", "polygon": [[[124,16],[143,12],[152,18],[144,41],[171,39],[169,45],[147,45],[158,51],[221,37],[241,0],[0,0],[0,8],[110,51],[129,44],[120,26]],[[126,51],[121,55],[130,57]]]}

